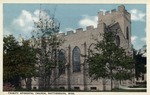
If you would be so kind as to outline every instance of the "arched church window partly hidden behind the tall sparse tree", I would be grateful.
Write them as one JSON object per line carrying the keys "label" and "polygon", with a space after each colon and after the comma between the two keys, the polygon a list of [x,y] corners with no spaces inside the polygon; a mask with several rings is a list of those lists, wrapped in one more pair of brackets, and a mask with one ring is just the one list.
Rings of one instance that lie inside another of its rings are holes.
{"label": "arched church window partly hidden behind the tall sparse tree", "polygon": [[58,54],[58,64],[59,64],[59,73],[64,74],[65,73],[65,64],[66,64],[66,58],[65,58],[65,50],[61,49]]}

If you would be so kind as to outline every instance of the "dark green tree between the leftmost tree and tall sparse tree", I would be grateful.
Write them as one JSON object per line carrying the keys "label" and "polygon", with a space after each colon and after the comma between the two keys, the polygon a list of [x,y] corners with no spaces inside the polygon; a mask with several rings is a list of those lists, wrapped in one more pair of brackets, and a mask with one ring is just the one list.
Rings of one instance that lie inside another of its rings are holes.
{"label": "dark green tree between the leftmost tree and tall sparse tree", "polygon": [[20,46],[20,64],[18,69],[20,76],[25,80],[27,89],[31,89],[31,78],[37,77],[37,56],[38,49],[30,46],[30,40],[23,40]]}

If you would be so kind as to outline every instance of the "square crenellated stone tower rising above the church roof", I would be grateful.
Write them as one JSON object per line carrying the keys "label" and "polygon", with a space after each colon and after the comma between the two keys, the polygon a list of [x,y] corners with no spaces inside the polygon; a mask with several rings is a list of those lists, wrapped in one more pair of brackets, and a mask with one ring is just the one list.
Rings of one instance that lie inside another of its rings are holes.
{"label": "square crenellated stone tower rising above the church roof", "polygon": [[124,35],[125,42],[128,44],[127,48],[131,50],[131,14],[125,9],[124,5],[118,6],[117,10],[106,11],[98,13],[98,23],[105,23],[111,25],[119,23],[121,31]]}

